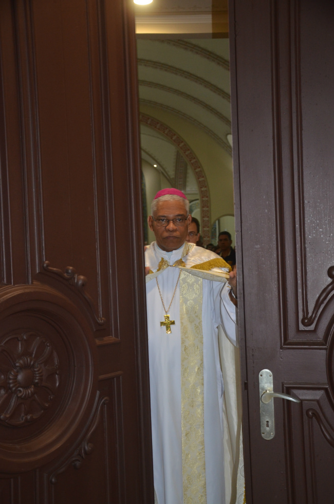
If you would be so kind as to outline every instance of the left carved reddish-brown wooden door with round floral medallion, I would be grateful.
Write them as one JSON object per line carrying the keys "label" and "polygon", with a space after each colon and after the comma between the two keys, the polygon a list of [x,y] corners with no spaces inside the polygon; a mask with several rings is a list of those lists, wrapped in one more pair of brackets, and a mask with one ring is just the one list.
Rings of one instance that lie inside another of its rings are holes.
{"label": "left carved reddish-brown wooden door with round floral medallion", "polygon": [[0,3],[2,503],[153,501],[134,33]]}

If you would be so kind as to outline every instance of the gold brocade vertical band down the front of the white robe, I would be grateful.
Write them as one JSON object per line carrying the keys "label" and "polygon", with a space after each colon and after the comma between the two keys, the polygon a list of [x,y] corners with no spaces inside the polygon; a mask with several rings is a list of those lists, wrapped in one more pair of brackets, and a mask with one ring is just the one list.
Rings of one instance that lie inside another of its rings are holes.
{"label": "gold brocade vertical band down the front of the white robe", "polygon": [[181,426],[184,504],[207,501],[204,445],[202,280],[181,272]]}

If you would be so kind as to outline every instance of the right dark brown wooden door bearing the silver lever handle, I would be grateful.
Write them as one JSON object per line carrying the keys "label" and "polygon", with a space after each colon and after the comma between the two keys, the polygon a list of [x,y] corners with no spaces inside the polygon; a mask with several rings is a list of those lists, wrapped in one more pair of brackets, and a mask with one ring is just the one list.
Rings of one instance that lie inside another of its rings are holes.
{"label": "right dark brown wooden door bearing the silver lever handle", "polygon": [[[246,500],[326,504],[334,499],[334,4],[235,0],[230,15]],[[269,421],[260,428],[263,369],[275,392],[301,401],[273,400],[270,440]]]}

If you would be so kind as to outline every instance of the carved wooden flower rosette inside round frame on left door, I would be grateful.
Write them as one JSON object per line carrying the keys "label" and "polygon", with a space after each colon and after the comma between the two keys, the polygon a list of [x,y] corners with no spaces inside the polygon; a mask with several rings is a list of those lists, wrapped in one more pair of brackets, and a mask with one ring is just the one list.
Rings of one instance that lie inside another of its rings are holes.
{"label": "carved wooden flower rosette inside round frame on left door", "polygon": [[23,426],[43,415],[59,385],[59,360],[50,341],[36,332],[0,340],[0,422]]}

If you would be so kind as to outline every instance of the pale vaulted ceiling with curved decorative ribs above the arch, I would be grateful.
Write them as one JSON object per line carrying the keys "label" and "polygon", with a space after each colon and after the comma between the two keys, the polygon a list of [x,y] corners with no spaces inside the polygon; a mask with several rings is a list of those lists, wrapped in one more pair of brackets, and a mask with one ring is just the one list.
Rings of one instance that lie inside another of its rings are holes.
{"label": "pale vaulted ceiling with curved decorative ribs above the arch", "polygon": [[228,39],[138,39],[140,104],[182,117],[231,154]]}

